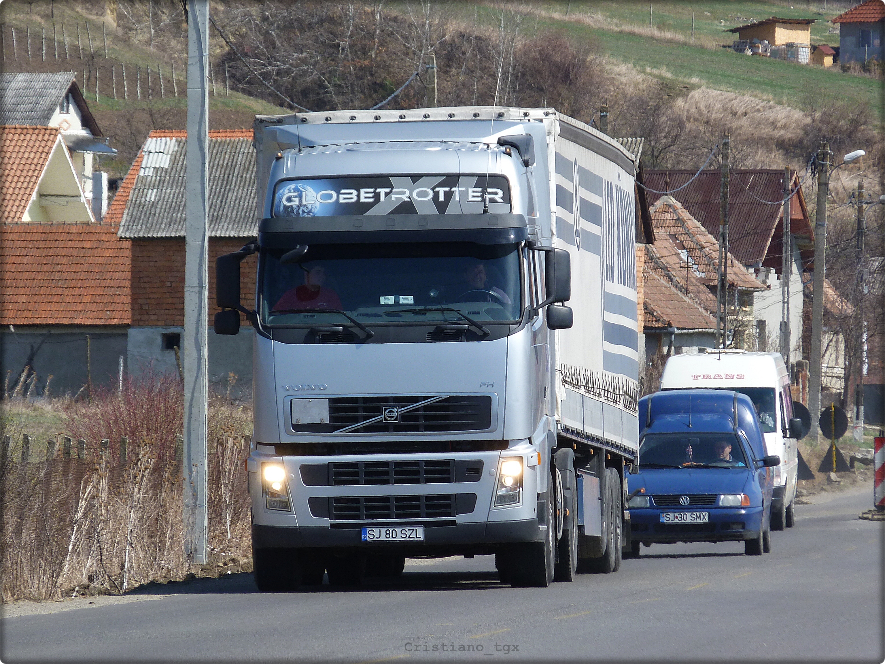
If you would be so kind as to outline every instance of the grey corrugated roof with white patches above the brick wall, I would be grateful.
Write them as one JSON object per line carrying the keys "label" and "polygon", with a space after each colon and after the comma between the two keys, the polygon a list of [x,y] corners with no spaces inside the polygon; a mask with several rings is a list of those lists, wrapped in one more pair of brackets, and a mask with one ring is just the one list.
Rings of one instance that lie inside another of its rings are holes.
{"label": "grey corrugated roof with white patches above the brick wall", "polygon": [[[120,237],[184,235],[186,154],[185,132],[150,133],[139,153],[141,161],[122,213]],[[209,235],[250,237],[258,233],[255,196],[252,130],[210,132]]]}

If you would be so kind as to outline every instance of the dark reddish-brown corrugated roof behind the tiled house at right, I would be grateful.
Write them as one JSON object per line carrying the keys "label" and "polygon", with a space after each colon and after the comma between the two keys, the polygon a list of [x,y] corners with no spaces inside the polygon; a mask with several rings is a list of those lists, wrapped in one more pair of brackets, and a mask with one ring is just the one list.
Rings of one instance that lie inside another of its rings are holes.
{"label": "dark reddish-brown corrugated roof behind the tiled house at right", "polygon": [[[688,182],[696,172],[691,170],[658,170],[645,172],[645,185],[658,191],[673,191]],[[792,174],[792,187],[797,176]],[[673,193],[692,217],[713,237],[719,237],[720,189],[719,170],[701,172],[685,189]],[[745,266],[764,263],[780,266],[780,237],[783,211],[783,171],[774,169],[734,169],[728,187],[728,251]],[[660,194],[650,193],[657,201]],[[766,202],[767,201],[767,202]],[[814,233],[808,219],[802,190],[791,199],[791,234],[797,240],[802,259],[811,266],[814,258]],[[766,262],[767,261],[767,262]]]}

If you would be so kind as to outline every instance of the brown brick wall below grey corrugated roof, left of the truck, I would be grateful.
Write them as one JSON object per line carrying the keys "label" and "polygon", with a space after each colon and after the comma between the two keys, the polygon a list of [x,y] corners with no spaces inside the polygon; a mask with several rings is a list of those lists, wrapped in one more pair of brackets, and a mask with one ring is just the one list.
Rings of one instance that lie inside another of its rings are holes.
{"label": "brown brick wall below grey corrugated roof, left of the truck", "polygon": [[[215,306],[215,259],[237,251],[245,238],[209,240],[209,324],[219,308]],[[240,292],[247,307],[255,293],[256,256],[240,264]],[[241,315],[241,323],[248,325]],[[184,238],[144,238],[132,241],[132,325],[184,325]]]}

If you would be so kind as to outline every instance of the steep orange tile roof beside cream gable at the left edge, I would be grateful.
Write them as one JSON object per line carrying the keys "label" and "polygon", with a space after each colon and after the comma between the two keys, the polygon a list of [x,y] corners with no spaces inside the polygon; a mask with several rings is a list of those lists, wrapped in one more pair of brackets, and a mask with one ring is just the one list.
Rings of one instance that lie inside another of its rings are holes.
{"label": "steep orange tile roof beside cream gable at the left edge", "polygon": [[58,127],[0,127],[0,223],[18,223],[58,140]]}

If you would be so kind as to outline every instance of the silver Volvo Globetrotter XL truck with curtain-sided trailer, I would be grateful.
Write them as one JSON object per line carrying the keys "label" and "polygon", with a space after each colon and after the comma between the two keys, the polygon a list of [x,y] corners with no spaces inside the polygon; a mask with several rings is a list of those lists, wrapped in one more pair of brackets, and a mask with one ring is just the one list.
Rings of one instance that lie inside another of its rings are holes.
{"label": "silver Volvo Globetrotter XL truck with curtain-sided trailer", "polygon": [[521,586],[617,570],[633,155],[550,108],[258,116],[255,147],[258,237],[218,259],[215,331],[256,333],[258,588],[450,555]]}

